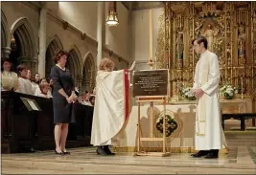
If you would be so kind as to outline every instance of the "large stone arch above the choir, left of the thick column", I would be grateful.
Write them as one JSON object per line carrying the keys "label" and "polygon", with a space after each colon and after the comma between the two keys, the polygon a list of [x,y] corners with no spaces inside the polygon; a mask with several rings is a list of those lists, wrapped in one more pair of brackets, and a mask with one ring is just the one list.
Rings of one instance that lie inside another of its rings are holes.
{"label": "large stone arch above the choir, left of the thick column", "polygon": [[[35,42],[35,33],[31,23],[26,17],[18,18],[11,27],[8,37],[8,44],[11,47],[13,42],[18,41],[19,45],[19,64],[25,64],[35,73],[37,66],[37,44]],[[11,53],[12,54],[12,53]]]}

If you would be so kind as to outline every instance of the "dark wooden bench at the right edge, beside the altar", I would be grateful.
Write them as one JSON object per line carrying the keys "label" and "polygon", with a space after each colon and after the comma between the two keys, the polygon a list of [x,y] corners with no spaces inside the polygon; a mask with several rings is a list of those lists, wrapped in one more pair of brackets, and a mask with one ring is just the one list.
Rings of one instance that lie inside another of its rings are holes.
{"label": "dark wooden bench at the right edge, beside the altar", "polygon": [[224,120],[240,120],[241,131],[245,130],[245,120],[256,118],[256,113],[238,113],[238,114],[222,114],[222,128],[224,130]]}

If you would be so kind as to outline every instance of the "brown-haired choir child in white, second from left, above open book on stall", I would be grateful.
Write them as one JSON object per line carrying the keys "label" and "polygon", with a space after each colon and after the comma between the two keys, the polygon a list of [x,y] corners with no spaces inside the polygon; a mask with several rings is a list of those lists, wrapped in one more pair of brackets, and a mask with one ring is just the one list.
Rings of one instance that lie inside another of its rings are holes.
{"label": "brown-haired choir child in white, second from left, above open book on stall", "polygon": [[18,90],[17,92],[27,94],[27,95],[33,95],[34,91],[32,87],[31,80],[28,79],[28,69],[25,65],[19,65],[17,67],[17,73],[18,73]]}

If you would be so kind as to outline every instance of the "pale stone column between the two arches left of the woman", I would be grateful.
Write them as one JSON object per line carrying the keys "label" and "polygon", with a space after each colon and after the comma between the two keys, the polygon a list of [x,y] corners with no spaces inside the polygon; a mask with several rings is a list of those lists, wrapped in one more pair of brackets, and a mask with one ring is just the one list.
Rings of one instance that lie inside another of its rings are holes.
{"label": "pale stone column between the two arches left of the woman", "polygon": [[46,55],[46,2],[42,2],[40,9],[40,27],[39,27],[39,55],[38,55],[38,73],[40,77],[45,77],[45,55]]}

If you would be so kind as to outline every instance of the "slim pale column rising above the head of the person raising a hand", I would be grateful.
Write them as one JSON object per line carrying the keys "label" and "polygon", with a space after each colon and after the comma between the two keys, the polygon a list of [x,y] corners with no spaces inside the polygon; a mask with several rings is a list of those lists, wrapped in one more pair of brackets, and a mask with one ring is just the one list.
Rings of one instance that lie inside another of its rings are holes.
{"label": "slim pale column rising above the head of the person raising a hand", "polygon": [[104,14],[104,2],[98,2],[98,11],[97,11],[98,49],[97,49],[97,61],[96,61],[97,69],[99,69],[100,61],[103,58],[103,14]]}

